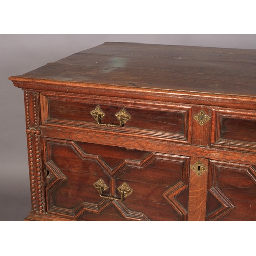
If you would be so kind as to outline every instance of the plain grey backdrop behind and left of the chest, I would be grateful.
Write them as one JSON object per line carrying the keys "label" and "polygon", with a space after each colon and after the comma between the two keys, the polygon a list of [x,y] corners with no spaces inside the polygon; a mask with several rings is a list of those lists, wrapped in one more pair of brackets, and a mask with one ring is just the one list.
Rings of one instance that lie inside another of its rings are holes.
{"label": "plain grey backdrop behind and left of the chest", "polygon": [[256,35],[0,35],[0,221],[31,207],[23,91],[8,77],[106,41],[256,49]]}

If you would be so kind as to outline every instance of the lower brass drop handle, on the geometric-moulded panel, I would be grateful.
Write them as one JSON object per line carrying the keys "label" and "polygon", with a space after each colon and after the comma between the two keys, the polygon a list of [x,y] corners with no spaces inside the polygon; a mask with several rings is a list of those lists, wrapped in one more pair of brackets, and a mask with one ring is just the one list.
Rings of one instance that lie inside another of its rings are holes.
{"label": "lower brass drop handle, on the geometric-moulded panel", "polygon": [[133,189],[126,182],[124,182],[121,186],[119,186],[117,188],[117,190],[121,194],[121,198],[116,198],[116,197],[113,197],[113,196],[104,196],[103,195],[103,191],[105,191],[109,187],[105,184],[105,182],[102,179],[99,179],[96,182],[94,182],[93,186],[98,190],[100,197],[107,198],[107,199],[112,200],[112,201],[113,200],[123,201],[124,198],[129,196],[133,191]]}

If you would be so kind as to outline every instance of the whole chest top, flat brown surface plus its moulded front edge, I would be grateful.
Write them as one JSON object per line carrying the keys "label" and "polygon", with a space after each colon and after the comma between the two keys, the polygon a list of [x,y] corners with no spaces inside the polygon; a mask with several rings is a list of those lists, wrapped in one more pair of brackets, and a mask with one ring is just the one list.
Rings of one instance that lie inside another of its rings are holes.
{"label": "whole chest top, flat brown surface plus its moulded front edge", "polygon": [[38,91],[256,108],[256,50],[248,49],[105,42],[9,79]]}

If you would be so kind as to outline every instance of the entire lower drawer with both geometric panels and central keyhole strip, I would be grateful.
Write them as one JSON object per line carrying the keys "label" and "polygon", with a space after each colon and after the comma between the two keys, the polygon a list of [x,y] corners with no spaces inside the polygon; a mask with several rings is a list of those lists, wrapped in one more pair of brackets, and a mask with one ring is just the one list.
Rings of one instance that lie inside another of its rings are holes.
{"label": "entire lower drawer with both geometric panels and central keyhole strip", "polygon": [[46,214],[81,221],[255,221],[256,166],[42,138]]}

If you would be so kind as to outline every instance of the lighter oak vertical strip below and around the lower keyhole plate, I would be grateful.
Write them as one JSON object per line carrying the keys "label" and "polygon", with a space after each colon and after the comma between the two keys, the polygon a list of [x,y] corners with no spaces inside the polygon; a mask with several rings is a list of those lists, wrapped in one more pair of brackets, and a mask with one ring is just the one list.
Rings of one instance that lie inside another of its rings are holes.
{"label": "lighter oak vertical strip below and around the lower keyhole plate", "polygon": [[[208,168],[208,159],[203,158],[192,157],[191,165],[199,161]],[[207,178],[208,171],[199,176],[190,168],[188,221],[205,221]]]}

